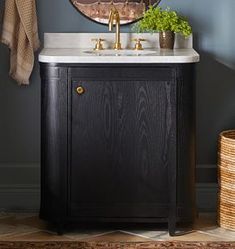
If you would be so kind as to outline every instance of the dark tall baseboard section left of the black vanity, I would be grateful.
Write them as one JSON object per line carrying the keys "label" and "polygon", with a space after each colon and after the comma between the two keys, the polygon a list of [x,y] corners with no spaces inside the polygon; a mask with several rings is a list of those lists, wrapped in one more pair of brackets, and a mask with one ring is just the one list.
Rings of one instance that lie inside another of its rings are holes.
{"label": "dark tall baseboard section left of the black vanity", "polygon": [[0,210],[35,212],[40,204],[40,164],[0,163]]}

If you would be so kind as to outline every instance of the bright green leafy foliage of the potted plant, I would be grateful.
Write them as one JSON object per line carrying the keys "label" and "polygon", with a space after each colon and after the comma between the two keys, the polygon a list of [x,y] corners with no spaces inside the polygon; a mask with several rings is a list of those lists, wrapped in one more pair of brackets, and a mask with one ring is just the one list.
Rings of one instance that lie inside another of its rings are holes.
{"label": "bright green leafy foliage of the potted plant", "polygon": [[143,18],[134,25],[134,30],[137,32],[152,33],[173,31],[181,33],[185,37],[188,37],[192,33],[192,28],[188,21],[178,15],[176,11],[171,11],[170,8],[154,8],[153,6],[150,6],[144,13]]}

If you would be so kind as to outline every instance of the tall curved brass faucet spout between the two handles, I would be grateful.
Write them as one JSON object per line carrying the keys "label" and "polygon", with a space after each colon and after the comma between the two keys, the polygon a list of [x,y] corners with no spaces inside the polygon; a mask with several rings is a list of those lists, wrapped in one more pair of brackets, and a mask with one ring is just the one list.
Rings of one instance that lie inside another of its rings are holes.
{"label": "tall curved brass faucet spout between the two handles", "polygon": [[118,10],[115,7],[112,7],[109,13],[109,31],[112,31],[114,23],[116,24],[116,38],[113,48],[115,50],[121,50],[122,45],[120,42],[120,15],[118,13]]}

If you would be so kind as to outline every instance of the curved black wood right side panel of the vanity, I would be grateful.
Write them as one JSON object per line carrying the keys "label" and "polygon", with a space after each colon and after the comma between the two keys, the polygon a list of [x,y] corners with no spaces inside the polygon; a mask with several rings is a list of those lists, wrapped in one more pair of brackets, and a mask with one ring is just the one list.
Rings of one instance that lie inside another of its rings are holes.
{"label": "curved black wood right side panel of the vanity", "polygon": [[[176,71],[178,85],[177,148],[178,148],[178,202],[195,216],[195,73],[192,65],[181,65]],[[185,198],[187,196],[187,198]],[[192,211],[193,210],[193,211]]]}

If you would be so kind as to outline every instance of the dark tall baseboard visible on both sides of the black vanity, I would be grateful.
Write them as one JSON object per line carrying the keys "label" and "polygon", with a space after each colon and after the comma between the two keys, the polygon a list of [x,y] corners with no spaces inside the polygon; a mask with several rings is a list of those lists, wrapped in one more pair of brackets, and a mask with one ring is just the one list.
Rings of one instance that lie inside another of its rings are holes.
{"label": "dark tall baseboard visible on both sides of the black vanity", "polygon": [[[200,212],[215,212],[217,166],[197,165],[196,196]],[[0,210],[37,212],[40,203],[39,163],[0,163]]]}

